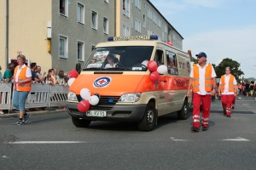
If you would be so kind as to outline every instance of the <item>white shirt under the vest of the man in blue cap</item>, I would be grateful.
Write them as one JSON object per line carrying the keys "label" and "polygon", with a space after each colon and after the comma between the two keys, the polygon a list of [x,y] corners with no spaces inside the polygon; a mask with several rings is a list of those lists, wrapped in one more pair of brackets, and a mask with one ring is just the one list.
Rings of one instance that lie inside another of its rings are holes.
{"label": "white shirt under the vest of the man in blue cap", "polygon": [[[206,69],[207,69],[208,63],[203,68],[201,68],[201,66],[198,65],[198,64],[196,66],[199,67],[199,91],[196,92],[196,93],[200,94],[200,95],[211,94],[210,92],[206,91],[206,82],[205,82]],[[194,71],[193,70],[190,71],[189,77],[194,78]],[[212,78],[213,77],[216,77],[216,72],[214,71],[214,68],[212,66]]]}

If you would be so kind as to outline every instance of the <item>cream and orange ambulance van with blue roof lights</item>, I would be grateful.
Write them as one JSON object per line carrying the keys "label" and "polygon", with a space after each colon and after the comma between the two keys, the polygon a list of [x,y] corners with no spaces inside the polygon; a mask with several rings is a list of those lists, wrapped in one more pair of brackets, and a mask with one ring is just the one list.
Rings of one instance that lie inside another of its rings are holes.
{"label": "cream and orange ambulance van with blue roof lights", "polygon": [[[167,67],[155,82],[147,67],[150,60]],[[108,37],[96,45],[69,88],[67,111],[76,127],[94,121],[137,122],[140,130],[151,131],[158,116],[177,112],[185,120],[191,104],[186,97],[190,69],[189,54],[157,36]],[[82,88],[99,98],[85,112],[78,110]]]}

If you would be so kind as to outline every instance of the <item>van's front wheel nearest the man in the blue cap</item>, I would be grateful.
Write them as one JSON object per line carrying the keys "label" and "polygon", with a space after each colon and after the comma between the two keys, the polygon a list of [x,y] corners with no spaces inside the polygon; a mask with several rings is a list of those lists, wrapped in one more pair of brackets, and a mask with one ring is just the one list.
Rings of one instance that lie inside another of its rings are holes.
{"label": "van's front wheel nearest the man in the blue cap", "polygon": [[149,102],[144,113],[143,120],[138,123],[138,128],[145,132],[153,130],[157,118],[156,116],[157,114],[155,111],[154,103]]}

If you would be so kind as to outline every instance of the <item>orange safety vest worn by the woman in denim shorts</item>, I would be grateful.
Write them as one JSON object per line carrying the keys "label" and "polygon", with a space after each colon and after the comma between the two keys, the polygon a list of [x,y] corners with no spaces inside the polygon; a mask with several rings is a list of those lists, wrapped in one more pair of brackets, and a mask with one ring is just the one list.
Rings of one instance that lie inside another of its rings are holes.
{"label": "orange safety vest worn by the woman in denim shorts", "polygon": [[[21,68],[19,77],[18,77],[18,81],[25,81],[26,80],[26,69],[28,66],[25,66],[24,68]],[[16,77],[16,73],[18,71],[19,65],[16,66],[15,68],[15,76]],[[17,83],[16,85],[18,85],[18,90],[21,92],[29,92],[31,91],[31,81],[30,82],[23,82],[23,83]],[[15,86],[15,90],[17,90],[17,87]]]}

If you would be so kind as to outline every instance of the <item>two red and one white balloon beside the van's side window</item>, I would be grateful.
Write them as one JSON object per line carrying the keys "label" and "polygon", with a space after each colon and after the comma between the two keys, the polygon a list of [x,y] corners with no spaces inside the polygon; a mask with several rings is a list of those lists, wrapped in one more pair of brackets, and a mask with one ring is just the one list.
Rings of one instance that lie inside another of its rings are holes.
{"label": "two red and one white balloon beside the van's side window", "polygon": [[160,78],[160,74],[165,74],[167,72],[166,65],[157,65],[154,60],[150,60],[147,63],[148,71],[151,71],[150,80],[152,82],[157,82]]}

